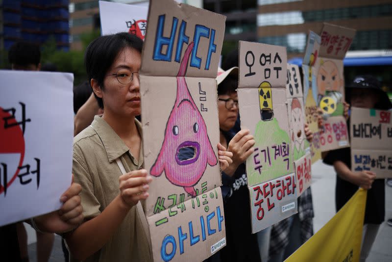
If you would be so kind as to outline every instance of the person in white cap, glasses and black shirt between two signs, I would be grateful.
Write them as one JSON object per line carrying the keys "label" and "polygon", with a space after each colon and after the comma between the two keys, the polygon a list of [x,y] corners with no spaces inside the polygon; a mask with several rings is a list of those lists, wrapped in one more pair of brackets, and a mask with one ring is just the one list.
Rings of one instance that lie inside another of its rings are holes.
{"label": "person in white cap, glasses and black shirt between two signs", "polygon": [[225,214],[226,247],[220,252],[221,261],[260,261],[257,236],[252,235],[249,193],[245,161],[254,149],[255,141],[249,130],[233,131],[238,107],[238,67],[218,69],[218,113],[220,143],[233,153],[233,162],[222,172],[222,195]]}

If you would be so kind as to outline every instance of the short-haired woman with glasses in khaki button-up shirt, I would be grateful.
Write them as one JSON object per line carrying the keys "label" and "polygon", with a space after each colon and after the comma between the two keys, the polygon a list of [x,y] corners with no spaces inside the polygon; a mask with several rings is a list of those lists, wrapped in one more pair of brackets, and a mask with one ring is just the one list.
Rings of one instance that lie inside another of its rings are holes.
{"label": "short-haired woman with glasses in khaki button-up shirt", "polygon": [[[152,261],[140,203],[152,178],[143,169],[142,126],[135,119],[141,114],[142,46],[137,36],[118,33],[98,37],[85,53],[88,79],[104,111],[73,140],[73,174],[82,186],[85,219],[66,236],[72,260]],[[221,150],[224,169],[231,154]]]}

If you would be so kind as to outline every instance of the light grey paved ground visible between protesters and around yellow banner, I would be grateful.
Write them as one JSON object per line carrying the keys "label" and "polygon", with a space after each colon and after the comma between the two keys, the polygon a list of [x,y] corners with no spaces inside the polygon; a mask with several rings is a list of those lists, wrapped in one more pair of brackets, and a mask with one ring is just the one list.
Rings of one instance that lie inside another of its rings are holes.
{"label": "light grey paved ground visible between protesters and around yellow banner", "polygon": [[[335,181],[336,176],[332,167],[324,165],[321,161],[312,166],[313,172],[313,204],[315,208],[315,232],[328,222],[335,214]],[[392,218],[392,187],[386,186],[386,219]],[[28,249],[30,262],[36,261],[35,233],[26,224],[28,232]],[[368,257],[368,262],[392,261],[392,227],[384,222],[378,232],[373,248]],[[64,256],[61,249],[61,238],[56,236],[50,262],[63,262]]]}

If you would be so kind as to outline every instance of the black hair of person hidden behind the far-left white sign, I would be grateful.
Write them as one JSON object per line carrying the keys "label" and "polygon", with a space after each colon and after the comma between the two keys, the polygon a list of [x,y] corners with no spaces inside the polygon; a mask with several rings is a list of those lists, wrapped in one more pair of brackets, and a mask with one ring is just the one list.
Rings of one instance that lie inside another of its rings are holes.
{"label": "black hair of person hidden behind the far-left white sign", "polygon": [[16,42],[8,51],[10,64],[18,66],[38,66],[41,60],[41,51],[38,45],[28,42]]}

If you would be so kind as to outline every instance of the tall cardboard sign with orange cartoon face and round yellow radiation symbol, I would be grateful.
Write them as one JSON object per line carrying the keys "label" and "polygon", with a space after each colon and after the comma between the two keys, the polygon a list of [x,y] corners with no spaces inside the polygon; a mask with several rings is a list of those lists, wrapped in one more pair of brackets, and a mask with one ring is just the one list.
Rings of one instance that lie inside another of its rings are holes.
{"label": "tall cardboard sign with orange cartoon face and round yellow radiation symbol", "polygon": [[[355,30],[324,23],[320,36],[319,58],[316,62],[317,102],[325,119],[320,146],[321,151],[329,151],[349,146],[348,136],[341,135],[341,132],[347,130],[343,117],[343,58],[354,39]],[[328,124],[338,126],[338,123],[339,129],[327,130]]]}

